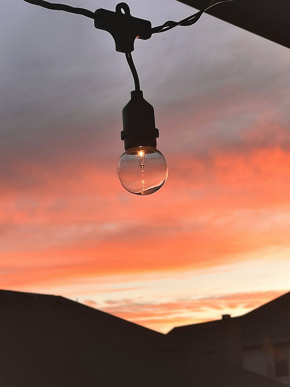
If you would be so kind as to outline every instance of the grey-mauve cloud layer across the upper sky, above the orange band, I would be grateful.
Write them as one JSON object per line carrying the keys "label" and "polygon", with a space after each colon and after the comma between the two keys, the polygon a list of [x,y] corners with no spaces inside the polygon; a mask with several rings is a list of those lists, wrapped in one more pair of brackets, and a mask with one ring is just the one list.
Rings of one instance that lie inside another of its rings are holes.
{"label": "grey-mauve cloud layer across the upper sky, above the orange band", "polygon": [[[133,15],[153,25],[194,12],[174,0],[129,5]],[[81,6],[114,9],[115,2],[87,0]],[[111,36],[81,15],[22,0],[4,0],[2,8],[0,151],[6,165],[16,156],[42,163],[64,153],[106,155],[107,147],[120,152],[121,109],[133,80]],[[194,144],[199,131],[213,138],[208,147],[218,138],[235,146],[241,130],[267,116],[265,106],[271,106],[270,116],[274,112],[281,123],[289,122],[290,51],[237,27],[204,15],[195,26],[136,41],[133,55],[145,98],[155,106],[165,151]],[[207,106],[212,123],[191,130]],[[170,135],[176,129],[170,122],[179,122],[180,142]]]}

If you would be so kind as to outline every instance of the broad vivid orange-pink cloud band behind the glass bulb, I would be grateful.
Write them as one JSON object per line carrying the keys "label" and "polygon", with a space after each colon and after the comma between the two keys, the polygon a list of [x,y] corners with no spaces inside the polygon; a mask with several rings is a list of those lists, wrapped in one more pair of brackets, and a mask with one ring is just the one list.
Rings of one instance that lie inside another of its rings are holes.
{"label": "broad vivid orange-pink cloud band behind the glass bulb", "polygon": [[261,133],[260,123],[237,149],[205,158],[169,157],[166,186],[145,198],[121,188],[113,161],[23,164],[22,180],[3,180],[2,287],[212,267],[288,247],[290,135]]}

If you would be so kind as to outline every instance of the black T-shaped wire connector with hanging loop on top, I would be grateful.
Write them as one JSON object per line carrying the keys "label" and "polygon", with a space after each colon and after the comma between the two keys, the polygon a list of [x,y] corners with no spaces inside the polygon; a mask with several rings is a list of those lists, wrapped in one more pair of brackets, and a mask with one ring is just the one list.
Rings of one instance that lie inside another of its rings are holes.
{"label": "black T-shaped wire connector with hanging loop on top", "polygon": [[115,41],[116,51],[123,53],[134,51],[136,38],[147,40],[152,36],[151,22],[132,16],[126,3],[117,4],[116,12],[97,9],[95,27],[109,32]]}

